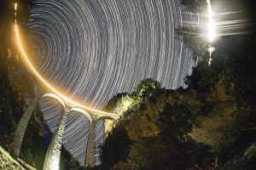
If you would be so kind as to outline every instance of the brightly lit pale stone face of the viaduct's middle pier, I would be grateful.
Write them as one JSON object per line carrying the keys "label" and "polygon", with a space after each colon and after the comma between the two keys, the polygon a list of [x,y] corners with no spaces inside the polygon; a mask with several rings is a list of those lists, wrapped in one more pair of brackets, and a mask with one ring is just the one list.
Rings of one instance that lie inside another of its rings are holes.
{"label": "brightly lit pale stone face of the viaduct's middle pier", "polygon": [[56,169],[58,170],[60,168],[60,156],[61,156],[61,143],[62,143],[62,134],[64,133],[64,128],[67,121],[67,114],[69,113],[69,110],[65,108],[65,112],[63,116],[61,117],[61,122],[57,128],[57,131],[55,132],[54,136],[54,144],[52,147],[50,156],[49,156],[49,166],[46,169]]}

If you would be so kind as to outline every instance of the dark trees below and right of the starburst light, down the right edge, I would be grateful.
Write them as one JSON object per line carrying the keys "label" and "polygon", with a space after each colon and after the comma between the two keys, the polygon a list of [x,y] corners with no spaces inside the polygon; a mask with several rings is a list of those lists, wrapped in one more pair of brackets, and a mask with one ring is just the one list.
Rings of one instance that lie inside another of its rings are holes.
{"label": "dark trees below and right of the starburst light, down the right edge", "polygon": [[[226,36],[218,38],[212,42],[215,51],[212,53],[212,63],[208,65],[209,53],[204,48],[202,37],[196,36],[200,31],[191,28],[179,28],[177,35],[183,36],[183,42],[192,50],[195,55],[201,57],[201,62],[193,68],[191,76],[186,77],[188,88],[194,88],[201,92],[209,91],[218,82],[219,76],[224,77],[225,93],[235,97],[234,103],[237,105],[236,111],[231,115],[235,118],[236,126],[231,138],[231,143],[224,143],[220,146],[218,160],[220,165],[224,165],[240,153],[253,141],[255,132],[251,129],[255,127],[255,102],[256,102],[256,33],[255,33],[255,2],[247,1],[242,3],[237,0],[234,4],[246,9],[247,14],[236,14],[231,20],[250,19],[250,26],[245,28],[247,34],[236,36]],[[189,4],[187,3],[187,8]],[[238,7],[240,8],[240,7]],[[236,9],[237,10],[237,7]],[[192,10],[193,11],[193,10]],[[193,44],[194,41],[196,45]],[[202,49],[203,51],[199,51]],[[227,135],[227,134],[226,134]],[[230,138],[230,137],[226,137]]]}

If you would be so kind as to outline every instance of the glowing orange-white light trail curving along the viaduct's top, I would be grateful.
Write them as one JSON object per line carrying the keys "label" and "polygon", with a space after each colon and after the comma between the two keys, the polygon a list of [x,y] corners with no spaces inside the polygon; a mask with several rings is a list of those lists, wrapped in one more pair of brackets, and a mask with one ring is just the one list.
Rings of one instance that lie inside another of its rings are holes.
{"label": "glowing orange-white light trail curving along the viaduct's top", "polygon": [[[17,3],[15,3],[15,10],[16,10],[16,9],[17,9]],[[15,21],[15,30],[16,30],[16,36],[17,36],[17,40],[18,40],[18,43],[19,43],[20,50],[21,50],[21,52],[22,52],[24,58],[26,59],[27,64],[30,66],[30,68],[32,69],[32,71],[37,75],[37,77],[38,77],[42,82],[44,82],[44,84],[45,84],[48,88],[50,88],[52,91],[54,91],[55,94],[58,94],[59,96],[61,96],[62,99],[67,100],[67,102],[69,102],[69,103],[71,103],[71,104],[73,104],[73,105],[77,105],[78,107],[84,108],[85,110],[95,111],[95,112],[97,112],[97,113],[102,113],[102,114],[106,114],[106,115],[118,116],[118,114],[108,113],[108,112],[104,112],[104,111],[97,111],[97,110],[91,109],[91,108],[89,108],[89,107],[86,107],[86,106],[84,106],[84,105],[81,105],[81,104],[79,104],[79,103],[73,101],[72,99],[68,99],[66,96],[64,96],[63,94],[61,94],[61,93],[58,92],[57,90],[55,90],[55,88],[52,88],[52,87],[49,85],[49,83],[46,82],[46,81],[44,80],[44,78],[41,77],[41,76],[38,74],[38,71],[36,71],[36,70],[34,69],[34,67],[32,66],[31,62],[30,62],[29,59],[26,57],[25,51],[24,51],[24,49],[22,48],[22,45],[21,45],[21,42],[20,42],[20,37],[19,37],[19,33],[18,33],[18,28],[17,28],[17,23],[16,23],[16,21]]]}

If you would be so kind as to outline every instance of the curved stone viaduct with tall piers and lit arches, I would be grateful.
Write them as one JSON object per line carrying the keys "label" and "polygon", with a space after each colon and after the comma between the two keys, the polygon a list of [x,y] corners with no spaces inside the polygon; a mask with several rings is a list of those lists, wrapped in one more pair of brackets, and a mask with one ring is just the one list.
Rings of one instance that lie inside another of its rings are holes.
{"label": "curved stone viaduct with tall piers and lit arches", "polygon": [[[18,69],[11,77],[9,77],[9,86],[12,87],[15,81],[19,79],[19,77],[24,74],[25,69]],[[66,125],[67,115],[70,111],[79,111],[80,113],[84,114],[88,117],[90,120],[90,131],[89,131],[89,137],[88,137],[88,143],[87,143],[87,150],[86,150],[86,156],[85,156],[85,162],[84,166],[94,166],[94,126],[97,120],[100,119],[109,119],[113,122],[116,122],[118,115],[117,114],[104,114],[99,113],[96,111],[86,111],[83,108],[80,108],[77,105],[73,105],[69,103],[65,99],[61,99],[61,97],[51,93],[49,89],[44,88],[44,84],[36,80],[36,85],[38,88],[38,93],[35,93],[34,98],[32,99],[32,102],[24,112],[24,114],[20,118],[20,122],[18,123],[18,126],[15,130],[15,137],[14,142],[12,144],[13,150],[15,152],[16,156],[20,156],[20,149],[22,140],[24,138],[26,127],[28,125],[28,122],[32,116],[33,111],[35,110],[36,105],[38,104],[38,101],[40,99],[43,99],[44,97],[50,97],[57,99],[60,104],[63,106],[63,113],[61,116],[61,120],[58,124],[57,130],[54,133],[53,138],[50,141],[49,148],[47,150],[47,154],[45,156],[44,160],[44,169],[58,169],[60,164],[60,155],[61,155],[61,143],[62,143],[62,134],[64,133],[64,128]]]}

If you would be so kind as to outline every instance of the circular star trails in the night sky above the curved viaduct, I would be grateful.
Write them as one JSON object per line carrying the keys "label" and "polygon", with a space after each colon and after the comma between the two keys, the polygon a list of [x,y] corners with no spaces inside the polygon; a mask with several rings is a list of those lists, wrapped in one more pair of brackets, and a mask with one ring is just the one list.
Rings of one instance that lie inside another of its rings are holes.
{"label": "circular star trails in the night sky above the curved viaduct", "polygon": [[182,20],[177,0],[36,0],[30,56],[56,90],[101,109],[148,77],[163,88],[185,86],[196,61],[175,38]]}

